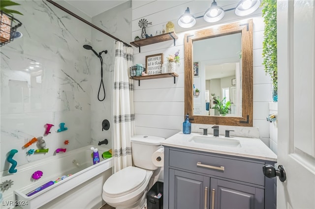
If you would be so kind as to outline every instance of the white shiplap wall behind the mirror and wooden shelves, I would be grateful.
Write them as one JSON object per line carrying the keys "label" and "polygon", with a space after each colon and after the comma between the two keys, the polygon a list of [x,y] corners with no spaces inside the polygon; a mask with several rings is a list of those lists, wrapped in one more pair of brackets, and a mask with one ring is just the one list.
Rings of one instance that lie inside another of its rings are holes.
{"label": "white shiplap wall behind the mirror and wooden shelves", "polygon": [[[217,0],[218,5],[223,9],[235,7],[236,0]],[[142,80],[140,86],[134,81],[134,107],[136,114],[136,133],[169,137],[182,130],[184,120],[184,34],[196,29],[236,22],[242,19],[253,19],[253,124],[259,127],[260,138],[269,145],[269,124],[266,121],[268,116],[268,103],[271,102],[271,82],[265,75],[262,66],[262,38],[263,38],[263,18],[261,8],[251,16],[245,18],[238,17],[233,11],[225,12],[225,17],[216,24],[205,22],[202,18],[197,19],[194,27],[185,29],[177,25],[177,19],[182,15],[187,7],[195,17],[203,15],[210,6],[209,1],[204,0],[154,0],[154,1],[132,1],[132,39],[141,35],[141,28],[138,26],[140,19],[147,19],[152,22],[146,28],[147,34],[156,34],[156,30],[162,30],[168,21],[175,25],[175,32],[179,36],[176,46],[173,41],[166,41],[157,44],[134,48],[133,64],[141,63],[145,66],[145,56],[164,53],[164,63],[169,54],[180,50],[179,77],[176,83],[173,78],[159,78]]]}

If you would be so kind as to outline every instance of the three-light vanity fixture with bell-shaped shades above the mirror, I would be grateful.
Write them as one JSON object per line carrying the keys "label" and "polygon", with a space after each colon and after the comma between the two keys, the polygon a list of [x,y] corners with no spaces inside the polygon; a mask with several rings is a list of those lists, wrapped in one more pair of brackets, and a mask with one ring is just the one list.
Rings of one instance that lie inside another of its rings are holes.
{"label": "three-light vanity fixture with bell-shaped shades above the mirror", "polygon": [[241,0],[235,8],[223,10],[221,6],[218,6],[216,0],[213,0],[211,6],[203,16],[194,17],[190,14],[189,7],[187,7],[185,13],[178,19],[177,24],[184,28],[192,27],[196,24],[197,18],[202,18],[208,23],[215,23],[220,21],[224,17],[224,12],[234,10],[237,16],[246,16],[252,14],[260,6],[261,0]]}

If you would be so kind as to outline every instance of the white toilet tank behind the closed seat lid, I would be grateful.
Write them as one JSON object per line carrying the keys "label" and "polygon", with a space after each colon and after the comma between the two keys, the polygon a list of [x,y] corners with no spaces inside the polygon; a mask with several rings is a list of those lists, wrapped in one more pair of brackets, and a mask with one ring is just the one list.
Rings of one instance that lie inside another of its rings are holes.
{"label": "white toilet tank behind the closed seat lid", "polygon": [[158,169],[151,160],[152,154],[162,147],[165,138],[148,135],[134,135],[131,137],[131,151],[133,164],[148,170]]}

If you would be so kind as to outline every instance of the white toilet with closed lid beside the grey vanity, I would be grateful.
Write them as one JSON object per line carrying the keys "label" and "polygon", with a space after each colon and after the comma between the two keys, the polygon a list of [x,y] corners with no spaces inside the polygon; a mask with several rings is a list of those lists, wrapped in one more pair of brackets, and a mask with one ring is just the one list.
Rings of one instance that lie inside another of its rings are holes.
{"label": "white toilet with closed lid beside the grey vanity", "polygon": [[131,137],[132,160],[136,167],[126,167],[110,176],[103,185],[103,200],[116,209],[142,209],[149,181],[158,169],[151,156],[164,138],[134,135]]}

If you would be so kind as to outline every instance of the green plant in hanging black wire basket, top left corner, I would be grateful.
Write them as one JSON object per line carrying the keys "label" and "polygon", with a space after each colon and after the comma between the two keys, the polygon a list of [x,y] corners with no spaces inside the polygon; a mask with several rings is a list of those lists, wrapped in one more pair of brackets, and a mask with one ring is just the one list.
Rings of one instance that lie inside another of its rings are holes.
{"label": "green plant in hanging black wire basket, top left corner", "polygon": [[[23,15],[21,12],[7,9],[7,6],[20,5],[11,0],[1,0],[0,1],[0,11],[1,11],[1,25],[0,25],[0,42],[5,44],[10,42],[13,38],[14,32],[17,27],[21,26],[22,23],[13,17],[13,14]],[[12,27],[12,22],[19,22],[16,26]]]}

